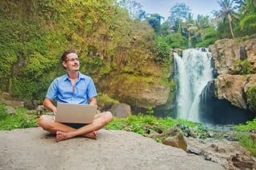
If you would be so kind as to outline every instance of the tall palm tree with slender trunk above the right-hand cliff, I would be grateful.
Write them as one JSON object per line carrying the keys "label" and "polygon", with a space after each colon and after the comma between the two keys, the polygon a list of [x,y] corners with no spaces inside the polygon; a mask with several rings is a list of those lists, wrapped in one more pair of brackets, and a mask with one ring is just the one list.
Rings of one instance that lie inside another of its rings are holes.
{"label": "tall palm tree with slender trunk above the right-hand cliff", "polygon": [[230,32],[232,38],[234,38],[233,28],[232,28],[232,18],[238,18],[238,13],[236,13],[237,6],[233,5],[234,0],[219,0],[218,4],[221,6],[221,10],[214,11],[214,15],[217,19],[222,20],[223,22],[228,20],[230,24]]}

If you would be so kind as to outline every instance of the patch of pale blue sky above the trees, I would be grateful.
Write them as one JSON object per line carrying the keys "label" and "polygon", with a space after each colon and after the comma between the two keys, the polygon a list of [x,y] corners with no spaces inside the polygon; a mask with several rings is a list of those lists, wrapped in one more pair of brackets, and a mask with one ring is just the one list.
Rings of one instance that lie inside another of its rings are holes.
{"label": "patch of pale blue sky above the trees", "polygon": [[170,8],[176,3],[184,2],[186,6],[189,6],[191,13],[194,18],[198,14],[212,16],[211,12],[213,10],[220,10],[218,5],[218,0],[135,0],[142,5],[142,9],[146,13],[150,14],[160,14],[165,20],[170,16]]}

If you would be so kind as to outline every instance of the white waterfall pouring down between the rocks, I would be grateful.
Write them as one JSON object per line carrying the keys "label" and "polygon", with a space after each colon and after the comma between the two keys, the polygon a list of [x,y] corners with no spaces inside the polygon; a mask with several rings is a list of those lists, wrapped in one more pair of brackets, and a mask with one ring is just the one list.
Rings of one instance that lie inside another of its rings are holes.
{"label": "white waterfall pouring down between the rocks", "polygon": [[182,57],[174,53],[175,78],[178,82],[177,118],[200,122],[200,94],[213,80],[211,53],[208,49],[186,49]]}

